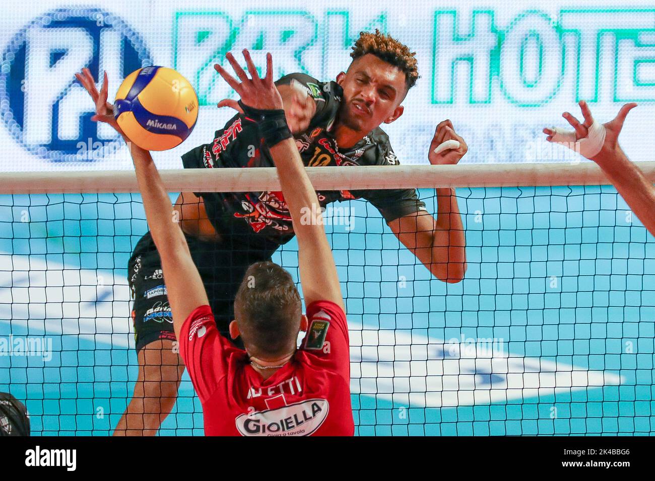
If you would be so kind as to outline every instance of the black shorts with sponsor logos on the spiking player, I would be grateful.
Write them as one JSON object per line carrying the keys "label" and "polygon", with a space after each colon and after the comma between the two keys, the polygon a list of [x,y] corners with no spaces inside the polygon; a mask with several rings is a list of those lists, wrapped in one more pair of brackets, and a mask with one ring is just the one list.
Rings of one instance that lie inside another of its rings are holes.
{"label": "black shorts with sponsor logos on the spiking player", "polygon": [[[191,257],[198,267],[219,332],[236,346],[229,325],[234,319],[234,297],[250,264],[271,260],[275,249],[249,249],[231,242],[205,242],[186,236]],[[162,266],[155,243],[147,232],[137,243],[128,262],[128,280],[132,291],[132,323],[136,351],[151,342],[176,340],[173,317],[166,295]]]}

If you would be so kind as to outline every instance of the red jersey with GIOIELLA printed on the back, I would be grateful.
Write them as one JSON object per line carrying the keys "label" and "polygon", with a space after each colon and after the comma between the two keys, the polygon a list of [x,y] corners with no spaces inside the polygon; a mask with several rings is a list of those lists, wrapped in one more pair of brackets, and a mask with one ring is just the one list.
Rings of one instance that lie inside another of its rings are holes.
{"label": "red jersey with GIOIELLA printed on the back", "polygon": [[179,353],[202,402],[207,436],[352,436],[350,346],[345,313],[307,307],[309,329],[289,363],[265,380],[223,338],[209,306],[185,320]]}

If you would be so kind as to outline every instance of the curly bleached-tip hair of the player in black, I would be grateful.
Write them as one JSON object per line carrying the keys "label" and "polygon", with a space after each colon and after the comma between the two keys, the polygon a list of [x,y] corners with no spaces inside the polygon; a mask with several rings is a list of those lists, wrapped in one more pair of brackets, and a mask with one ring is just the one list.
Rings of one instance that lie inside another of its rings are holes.
{"label": "curly bleached-tip hair of the player in black", "polygon": [[375,33],[360,32],[360,38],[352,47],[350,56],[352,60],[357,60],[365,54],[373,54],[384,60],[384,62],[388,62],[402,70],[405,73],[407,90],[412,88],[420,77],[415,57],[416,52],[410,52],[407,45],[403,45],[391,35],[380,33],[377,28]]}

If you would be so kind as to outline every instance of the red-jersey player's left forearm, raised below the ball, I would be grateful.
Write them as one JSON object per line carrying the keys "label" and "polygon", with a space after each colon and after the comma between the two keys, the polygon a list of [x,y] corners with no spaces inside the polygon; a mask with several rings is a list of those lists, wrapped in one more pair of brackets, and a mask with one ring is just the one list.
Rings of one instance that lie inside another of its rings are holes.
{"label": "red-jersey player's left forearm, raised below the ball", "polygon": [[128,145],[134,161],[145,218],[160,256],[164,258],[176,255],[182,245],[188,251],[179,224],[173,221],[173,205],[150,152],[134,143]]}

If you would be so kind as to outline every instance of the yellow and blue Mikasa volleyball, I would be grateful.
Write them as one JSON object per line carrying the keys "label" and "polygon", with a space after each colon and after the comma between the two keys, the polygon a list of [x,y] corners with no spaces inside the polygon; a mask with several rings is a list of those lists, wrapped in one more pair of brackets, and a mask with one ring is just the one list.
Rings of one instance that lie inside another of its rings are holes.
{"label": "yellow and blue Mikasa volleyball", "polygon": [[123,80],[114,117],[141,149],[167,151],[191,134],[198,120],[198,96],[189,80],[174,69],[151,65]]}

